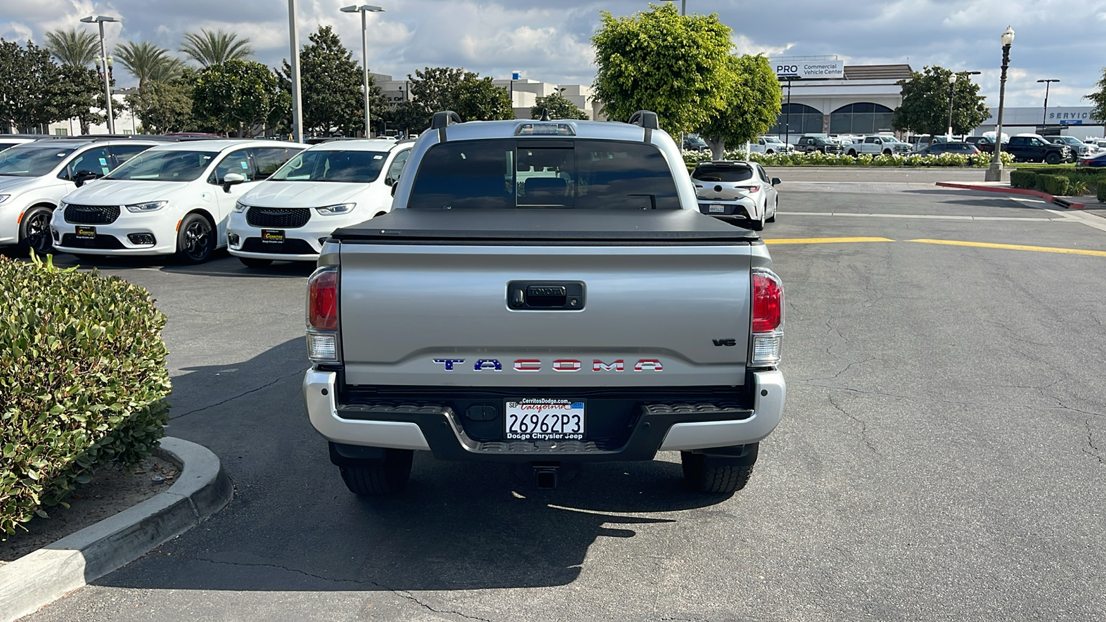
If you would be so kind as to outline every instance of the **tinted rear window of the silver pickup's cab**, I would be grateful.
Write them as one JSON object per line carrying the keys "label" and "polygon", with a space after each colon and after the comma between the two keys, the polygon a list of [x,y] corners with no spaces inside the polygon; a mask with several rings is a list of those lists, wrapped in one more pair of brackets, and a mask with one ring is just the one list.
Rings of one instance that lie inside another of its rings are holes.
{"label": "tinted rear window of the silver pickup's cab", "polygon": [[660,152],[616,141],[457,141],[419,163],[410,209],[679,209]]}

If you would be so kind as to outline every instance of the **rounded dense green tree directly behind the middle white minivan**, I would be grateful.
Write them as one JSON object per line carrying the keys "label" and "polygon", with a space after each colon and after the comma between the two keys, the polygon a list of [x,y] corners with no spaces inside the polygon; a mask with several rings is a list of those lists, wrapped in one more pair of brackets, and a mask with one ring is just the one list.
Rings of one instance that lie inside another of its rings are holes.
{"label": "rounded dense green tree directly behind the middle white minivan", "polygon": [[211,65],[196,76],[192,87],[196,118],[220,133],[238,136],[264,125],[280,101],[276,76],[254,61]]}

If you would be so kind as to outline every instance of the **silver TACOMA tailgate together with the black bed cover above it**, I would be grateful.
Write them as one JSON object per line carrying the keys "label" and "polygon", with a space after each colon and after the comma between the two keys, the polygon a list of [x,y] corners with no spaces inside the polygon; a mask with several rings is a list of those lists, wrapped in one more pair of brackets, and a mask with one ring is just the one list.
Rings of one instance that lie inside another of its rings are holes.
{"label": "silver TACOMA tailgate together with the black bed cover above it", "polygon": [[[744,383],[755,237],[686,210],[520,211],[337,231],[346,384]],[[575,283],[578,304],[520,310],[512,283]]]}

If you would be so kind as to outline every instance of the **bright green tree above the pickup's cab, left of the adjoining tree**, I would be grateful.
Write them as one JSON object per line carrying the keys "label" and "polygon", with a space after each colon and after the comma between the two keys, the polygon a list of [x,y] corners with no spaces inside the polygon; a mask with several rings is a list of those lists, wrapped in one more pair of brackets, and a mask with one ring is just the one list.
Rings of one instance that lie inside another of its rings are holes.
{"label": "bright green tree above the pickup's cab, left of the adjoining tree", "polygon": [[609,118],[656,112],[669,134],[692,131],[726,107],[733,43],[717,14],[681,17],[675,6],[615,18],[602,11],[595,93]]}

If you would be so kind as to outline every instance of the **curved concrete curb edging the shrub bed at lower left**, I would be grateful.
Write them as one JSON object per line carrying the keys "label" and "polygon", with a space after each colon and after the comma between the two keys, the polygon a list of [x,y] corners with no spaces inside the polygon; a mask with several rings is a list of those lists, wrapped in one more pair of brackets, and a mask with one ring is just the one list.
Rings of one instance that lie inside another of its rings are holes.
{"label": "curved concrete curb edging the shrub bed at lower left", "polygon": [[11,622],[131,563],[222,509],[233,485],[210,449],[180,438],[160,450],[180,463],[165,493],[0,567],[0,622]]}

